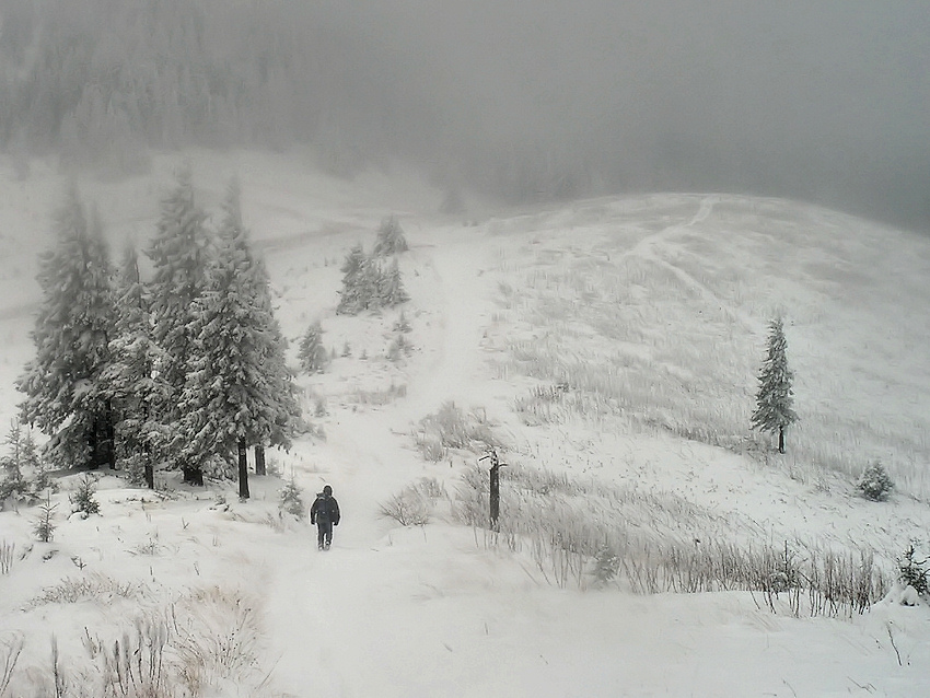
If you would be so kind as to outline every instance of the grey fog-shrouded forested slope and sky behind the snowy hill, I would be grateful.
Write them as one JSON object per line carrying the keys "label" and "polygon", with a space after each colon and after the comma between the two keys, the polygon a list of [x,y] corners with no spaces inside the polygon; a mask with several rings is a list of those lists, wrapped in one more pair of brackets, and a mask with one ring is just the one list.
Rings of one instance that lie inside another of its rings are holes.
{"label": "grey fog-shrouded forested slope and sky behind the snowy hill", "polygon": [[718,190],[930,229],[919,0],[0,0],[0,148],[418,166],[454,201]]}

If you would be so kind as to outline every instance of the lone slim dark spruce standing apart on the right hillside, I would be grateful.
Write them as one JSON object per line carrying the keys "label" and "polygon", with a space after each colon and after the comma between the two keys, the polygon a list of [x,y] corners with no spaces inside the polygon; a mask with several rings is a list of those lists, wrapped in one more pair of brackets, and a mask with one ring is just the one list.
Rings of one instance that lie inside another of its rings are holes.
{"label": "lone slim dark spruce standing apart on the right hillside", "polygon": [[769,323],[768,354],[759,372],[759,389],[756,393],[756,411],[753,412],[754,429],[778,433],[778,452],[784,453],[784,430],[798,421],[794,414],[794,374],[788,369],[784,326],[781,318]]}

